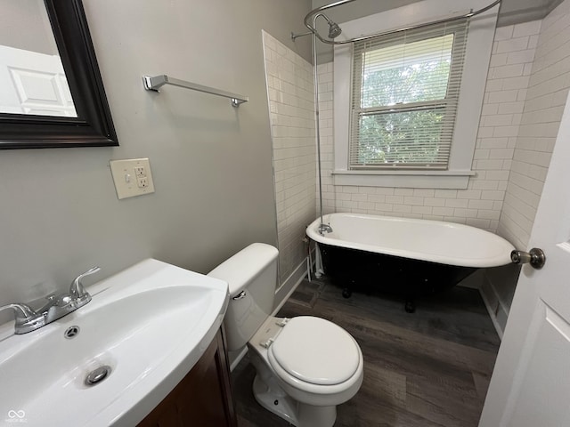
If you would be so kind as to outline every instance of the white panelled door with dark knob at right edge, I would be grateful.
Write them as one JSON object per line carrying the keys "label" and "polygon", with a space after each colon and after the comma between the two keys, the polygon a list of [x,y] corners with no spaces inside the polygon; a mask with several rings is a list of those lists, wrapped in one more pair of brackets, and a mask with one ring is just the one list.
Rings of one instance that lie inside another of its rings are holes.
{"label": "white panelled door with dark knob at right edge", "polygon": [[480,427],[570,426],[570,106],[562,117]]}

